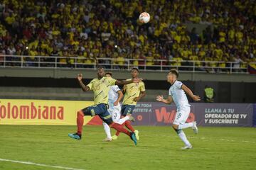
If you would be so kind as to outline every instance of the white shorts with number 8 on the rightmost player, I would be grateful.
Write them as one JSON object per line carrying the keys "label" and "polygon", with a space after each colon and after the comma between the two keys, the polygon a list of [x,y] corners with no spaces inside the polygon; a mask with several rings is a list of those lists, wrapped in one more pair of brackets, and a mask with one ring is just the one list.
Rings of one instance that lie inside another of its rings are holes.
{"label": "white shorts with number 8 on the rightmost player", "polygon": [[190,106],[182,106],[181,108],[178,108],[173,124],[182,125],[186,123],[189,113],[190,113]]}

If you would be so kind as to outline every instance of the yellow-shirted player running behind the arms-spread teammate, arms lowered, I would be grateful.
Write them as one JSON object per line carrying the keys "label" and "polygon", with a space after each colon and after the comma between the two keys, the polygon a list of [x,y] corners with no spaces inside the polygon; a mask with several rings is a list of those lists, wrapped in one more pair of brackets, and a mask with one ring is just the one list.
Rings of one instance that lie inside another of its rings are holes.
{"label": "yellow-shirted player running behind the arms-spread teammate, arms lowered", "polygon": [[[139,77],[139,69],[133,68],[132,79],[138,79],[138,77]],[[132,79],[127,79],[127,81],[131,81]],[[122,109],[121,109],[122,117],[126,116],[127,114],[132,114],[132,111],[137,105],[137,101],[139,101],[141,98],[146,96],[144,82],[139,81],[139,82],[134,82],[132,84],[124,85],[123,93],[124,93],[124,100],[123,100]],[[131,121],[129,120],[125,121],[124,125],[129,130],[134,132],[136,139],[139,140],[139,131],[134,130],[134,128],[132,127]],[[118,135],[119,135],[119,131],[117,131],[116,134],[112,136],[112,140],[117,140]]]}

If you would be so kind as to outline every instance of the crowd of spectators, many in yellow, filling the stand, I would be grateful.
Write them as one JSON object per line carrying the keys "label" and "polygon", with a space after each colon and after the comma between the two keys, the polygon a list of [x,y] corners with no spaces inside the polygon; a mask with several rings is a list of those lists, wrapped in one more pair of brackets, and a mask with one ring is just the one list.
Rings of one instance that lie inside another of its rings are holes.
{"label": "crowd of spectators, many in yellow, filling the stand", "polygon": [[[151,14],[149,23],[139,23],[143,11]],[[213,67],[256,62],[255,0],[0,0],[0,20],[0,55],[63,56],[60,67],[73,67],[70,57],[82,57],[80,67],[114,62],[122,68],[126,58],[149,67],[156,60],[222,61]],[[188,29],[191,23],[203,31]]]}

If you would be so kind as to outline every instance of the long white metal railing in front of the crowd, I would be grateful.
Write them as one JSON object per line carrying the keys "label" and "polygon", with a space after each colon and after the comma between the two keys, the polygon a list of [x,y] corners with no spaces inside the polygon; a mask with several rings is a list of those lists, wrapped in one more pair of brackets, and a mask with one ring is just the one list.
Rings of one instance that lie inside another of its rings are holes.
{"label": "long white metal railing in front of the crowd", "polygon": [[118,58],[85,58],[85,57],[55,57],[28,55],[0,55],[0,67],[31,67],[31,68],[73,68],[96,69],[98,66],[106,69],[132,69],[164,72],[176,68],[181,72],[226,72],[247,73],[247,62],[197,61],[197,60],[144,60]]}

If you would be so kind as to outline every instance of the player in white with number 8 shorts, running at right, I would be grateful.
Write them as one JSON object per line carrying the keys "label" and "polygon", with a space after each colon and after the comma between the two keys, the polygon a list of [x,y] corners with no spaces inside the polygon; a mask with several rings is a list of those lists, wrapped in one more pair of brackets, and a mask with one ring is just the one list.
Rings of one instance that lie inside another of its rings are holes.
{"label": "player in white with number 8 shorts, running at right", "polygon": [[171,69],[167,75],[167,81],[171,84],[169,89],[169,97],[164,99],[163,96],[157,96],[156,100],[166,104],[170,104],[172,102],[175,103],[177,113],[174,119],[173,128],[177,132],[178,137],[180,137],[181,140],[185,143],[185,147],[182,147],[181,149],[191,149],[192,145],[186,138],[183,129],[192,128],[193,131],[197,134],[198,128],[196,127],[196,121],[193,123],[186,123],[190,113],[190,105],[188,103],[186,94],[188,94],[188,96],[190,96],[194,101],[200,101],[201,98],[200,96],[194,95],[191,89],[188,89],[188,87],[182,84],[181,81],[178,81],[177,78],[178,71],[176,69]]}

